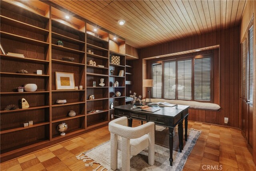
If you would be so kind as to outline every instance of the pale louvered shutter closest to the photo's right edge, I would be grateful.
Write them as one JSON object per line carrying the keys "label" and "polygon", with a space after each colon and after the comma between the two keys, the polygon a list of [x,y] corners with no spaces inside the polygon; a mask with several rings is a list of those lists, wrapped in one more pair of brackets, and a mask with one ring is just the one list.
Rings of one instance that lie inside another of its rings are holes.
{"label": "pale louvered shutter closest to the photo's right edge", "polygon": [[249,29],[248,40],[248,100],[253,96],[253,26]]}

